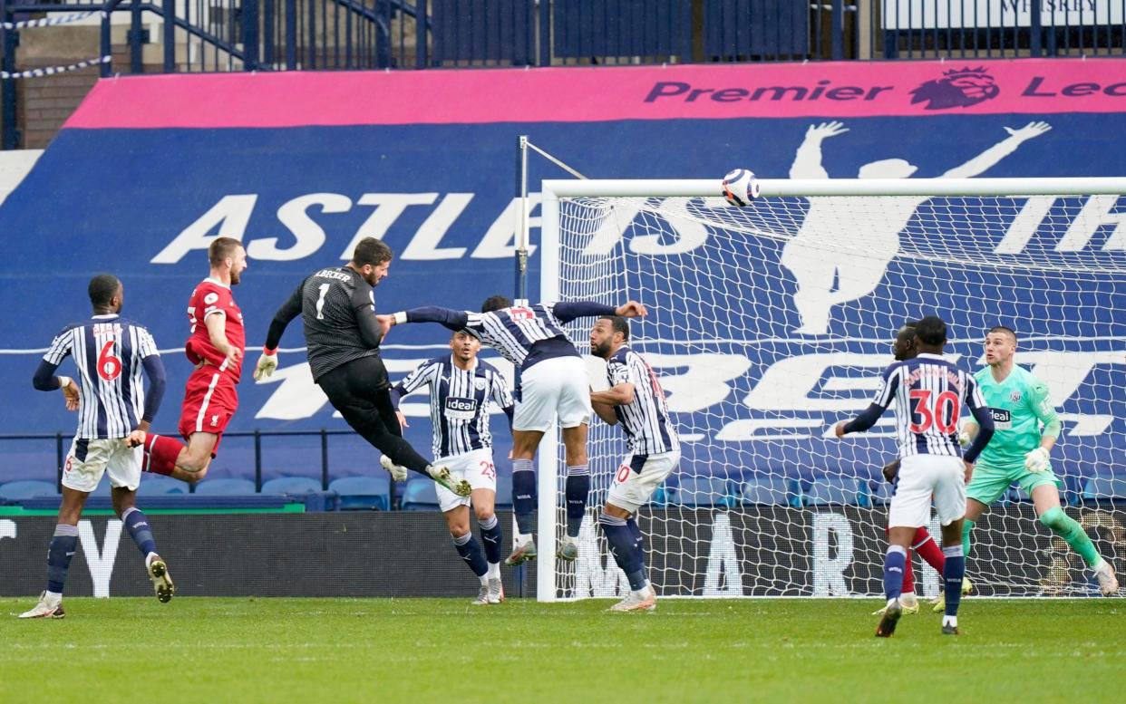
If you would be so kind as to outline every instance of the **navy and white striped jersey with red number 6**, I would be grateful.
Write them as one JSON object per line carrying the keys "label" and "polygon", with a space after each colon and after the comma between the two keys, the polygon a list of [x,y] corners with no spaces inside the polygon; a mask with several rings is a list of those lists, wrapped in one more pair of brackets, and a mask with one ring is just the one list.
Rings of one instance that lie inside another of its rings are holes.
{"label": "navy and white striped jersey with red number 6", "polygon": [[78,368],[78,432],[86,440],[127,437],[144,412],[142,372],[159,355],[143,326],[117,315],[96,315],[55,336],[43,360],[57,367],[68,355]]}

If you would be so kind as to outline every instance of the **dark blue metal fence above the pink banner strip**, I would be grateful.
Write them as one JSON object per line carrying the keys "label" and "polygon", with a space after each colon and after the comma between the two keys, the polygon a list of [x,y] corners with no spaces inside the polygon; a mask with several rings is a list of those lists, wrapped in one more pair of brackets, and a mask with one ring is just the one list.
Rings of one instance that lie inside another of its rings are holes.
{"label": "dark blue metal fence above the pink banner strip", "polygon": [[1096,56],[1126,35],[1126,0],[0,0],[7,22],[81,10],[106,16],[107,73]]}

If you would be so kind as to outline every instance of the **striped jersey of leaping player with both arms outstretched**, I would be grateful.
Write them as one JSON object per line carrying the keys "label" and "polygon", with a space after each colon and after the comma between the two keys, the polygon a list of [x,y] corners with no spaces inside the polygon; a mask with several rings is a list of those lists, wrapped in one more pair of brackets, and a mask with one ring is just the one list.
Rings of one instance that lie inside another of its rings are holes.
{"label": "striped jersey of leaping player with both arms outstretched", "polygon": [[[490,313],[471,313],[465,325],[481,335],[481,342],[493,348],[500,355],[524,367],[531,346],[545,340],[560,340],[561,345],[555,354],[547,356],[579,356],[574,344],[563,332],[563,323],[555,317],[555,304],[536,304],[534,306],[516,306]],[[538,360],[537,360],[538,361]]]}

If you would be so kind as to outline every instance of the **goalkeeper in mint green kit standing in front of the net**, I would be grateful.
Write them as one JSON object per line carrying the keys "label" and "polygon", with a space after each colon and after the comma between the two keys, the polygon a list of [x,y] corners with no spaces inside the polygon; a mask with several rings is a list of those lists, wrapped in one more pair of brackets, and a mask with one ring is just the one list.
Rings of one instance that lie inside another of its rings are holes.
{"label": "goalkeeper in mint green kit standing in front of the net", "polygon": [[[1043,381],[1018,367],[1017,333],[998,325],[985,336],[986,368],[974,374],[985,404],[993,415],[997,432],[985,445],[973,478],[966,487],[966,518],[962,529],[962,547],[969,554],[969,532],[974,521],[1001,497],[1016,481],[1033,498],[1040,523],[1062,538],[1094,570],[1103,596],[1118,590],[1114,567],[1099,556],[1094,543],[1078,521],[1060,506],[1060,479],[1052,471],[1048,454],[1060,435],[1060,419]],[[1043,430],[1040,427],[1043,424]],[[962,441],[968,442],[977,432],[968,423]]]}

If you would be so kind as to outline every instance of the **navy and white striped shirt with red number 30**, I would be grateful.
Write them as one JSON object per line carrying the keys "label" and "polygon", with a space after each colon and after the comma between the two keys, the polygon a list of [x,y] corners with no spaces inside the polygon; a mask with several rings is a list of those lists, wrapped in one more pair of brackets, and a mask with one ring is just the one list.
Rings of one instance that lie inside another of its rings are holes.
{"label": "navy and white striped shirt with red number 30", "polygon": [[[849,423],[844,431],[872,427],[893,400],[901,458],[913,454],[963,457],[958,444],[958,416],[963,407],[974,416],[985,413],[986,408],[972,374],[939,354],[923,353],[885,369],[868,410]],[[975,445],[976,441],[966,451],[966,461],[976,458],[980,448]]]}

